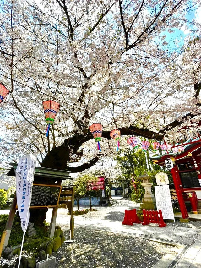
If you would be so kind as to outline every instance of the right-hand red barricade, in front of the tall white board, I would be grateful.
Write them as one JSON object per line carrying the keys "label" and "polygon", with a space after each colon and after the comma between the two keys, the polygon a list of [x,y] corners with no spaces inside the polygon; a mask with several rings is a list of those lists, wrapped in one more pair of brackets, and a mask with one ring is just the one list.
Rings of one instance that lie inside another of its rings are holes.
{"label": "right-hand red barricade, in front of the tall white board", "polygon": [[165,227],[166,223],[163,220],[162,211],[159,210],[143,210],[143,222],[142,225],[151,223],[158,223],[159,227]]}

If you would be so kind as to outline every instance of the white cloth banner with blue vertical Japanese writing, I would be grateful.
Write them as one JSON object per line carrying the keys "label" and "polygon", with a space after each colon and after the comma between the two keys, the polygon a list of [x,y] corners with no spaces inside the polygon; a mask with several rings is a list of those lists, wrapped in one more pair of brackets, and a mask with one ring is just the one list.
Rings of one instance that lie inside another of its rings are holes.
{"label": "white cloth banner with blue vertical Japanese writing", "polygon": [[29,223],[29,207],[34,181],[35,164],[36,153],[22,156],[19,159],[15,172],[18,212],[21,219],[21,227],[24,232]]}

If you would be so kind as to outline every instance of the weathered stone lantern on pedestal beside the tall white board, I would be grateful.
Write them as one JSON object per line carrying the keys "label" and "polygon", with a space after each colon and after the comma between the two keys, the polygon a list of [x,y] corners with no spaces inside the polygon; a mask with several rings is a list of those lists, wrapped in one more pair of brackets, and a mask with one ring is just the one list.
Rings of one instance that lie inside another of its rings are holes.
{"label": "weathered stone lantern on pedestal beside the tall white board", "polygon": [[[142,176],[136,177],[138,180],[141,180],[141,185],[145,189],[144,198],[142,199],[142,203],[140,204],[140,210],[156,210],[156,200],[154,194],[151,192],[151,187],[154,185],[150,183],[150,176],[144,171]],[[141,212],[141,211],[139,211]]]}

